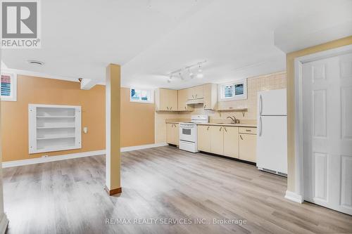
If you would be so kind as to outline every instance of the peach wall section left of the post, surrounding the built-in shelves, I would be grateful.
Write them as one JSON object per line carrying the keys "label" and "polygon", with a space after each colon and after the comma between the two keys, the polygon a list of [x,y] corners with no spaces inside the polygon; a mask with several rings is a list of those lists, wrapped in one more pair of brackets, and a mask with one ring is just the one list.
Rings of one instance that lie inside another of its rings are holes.
{"label": "peach wall section left of the post, surrounding the built-in shelves", "polygon": [[[28,153],[28,104],[81,105],[82,149]],[[42,155],[65,155],[105,149],[105,86],[81,90],[79,82],[29,77],[18,74],[17,101],[1,101],[3,162],[27,160]]]}

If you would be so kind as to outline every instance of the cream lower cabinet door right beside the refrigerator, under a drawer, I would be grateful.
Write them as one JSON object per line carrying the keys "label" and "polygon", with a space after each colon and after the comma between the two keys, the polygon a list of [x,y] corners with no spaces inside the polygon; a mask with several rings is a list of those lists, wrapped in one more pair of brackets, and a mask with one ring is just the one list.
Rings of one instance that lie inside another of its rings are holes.
{"label": "cream lower cabinet door right beside the refrigerator, under a drawer", "polygon": [[256,162],[256,145],[255,134],[239,134],[239,159]]}

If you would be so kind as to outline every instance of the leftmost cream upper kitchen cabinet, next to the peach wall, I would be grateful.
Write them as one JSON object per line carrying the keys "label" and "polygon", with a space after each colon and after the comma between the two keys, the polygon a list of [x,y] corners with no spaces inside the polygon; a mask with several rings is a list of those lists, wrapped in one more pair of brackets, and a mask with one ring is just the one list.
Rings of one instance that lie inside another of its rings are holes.
{"label": "leftmost cream upper kitchen cabinet, next to the peach wall", "polygon": [[177,111],[177,90],[156,89],[156,110]]}

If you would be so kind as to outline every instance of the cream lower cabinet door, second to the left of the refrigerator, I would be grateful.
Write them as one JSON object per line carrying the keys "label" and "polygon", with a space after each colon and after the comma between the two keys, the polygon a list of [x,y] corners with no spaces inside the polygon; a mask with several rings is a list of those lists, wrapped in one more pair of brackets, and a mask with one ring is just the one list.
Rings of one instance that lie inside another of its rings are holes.
{"label": "cream lower cabinet door, second to the left of the refrigerator", "polygon": [[239,128],[224,126],[224,155],[239,158]]}

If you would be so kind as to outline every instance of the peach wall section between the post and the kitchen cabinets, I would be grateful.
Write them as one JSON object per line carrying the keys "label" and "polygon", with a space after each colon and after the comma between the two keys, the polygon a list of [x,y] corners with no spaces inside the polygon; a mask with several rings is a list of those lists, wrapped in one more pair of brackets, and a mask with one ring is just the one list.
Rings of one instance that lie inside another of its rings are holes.
{"label": "peach wall section between the post and the kitchen cabinets", "polygon": [[130,88],[121,88],[121,147],[153,144],[154,103],[130,102]]}

